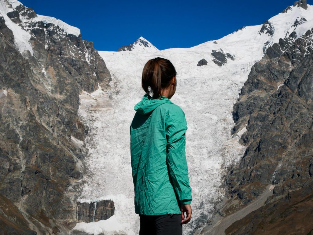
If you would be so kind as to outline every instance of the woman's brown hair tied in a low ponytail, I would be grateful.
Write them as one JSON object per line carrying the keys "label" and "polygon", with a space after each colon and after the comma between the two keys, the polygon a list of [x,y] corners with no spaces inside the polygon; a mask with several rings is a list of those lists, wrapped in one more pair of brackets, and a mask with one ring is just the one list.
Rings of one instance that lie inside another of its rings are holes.
{"label": "woman's brown hair tied in a low ponytail", "polygon": [[159,99],[161,88],[168,87],[176,74],[174,65],[168,59],[150,59],[143,67],[141,86],[147,94],[152,92],[152,97]]}

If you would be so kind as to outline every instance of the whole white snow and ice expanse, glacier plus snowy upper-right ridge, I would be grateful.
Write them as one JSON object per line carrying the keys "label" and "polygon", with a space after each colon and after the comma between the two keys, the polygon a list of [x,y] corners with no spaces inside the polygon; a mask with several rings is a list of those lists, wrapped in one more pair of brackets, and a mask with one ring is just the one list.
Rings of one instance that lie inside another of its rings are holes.
{"label": "whole white snow and ice expanse, glacier plus snowy upper-right ridge", "polygon": [[[237,136],[231,136],[230,130],[234,124],[233,103],[251,66],[279,38],[291,35],[294,40],[294,31],[299,37],[313,27],[312,6],[308,5],[306,10],[291,6],[284,12],[263,25],[243,27],[221,39],[187,49],[145,50],[144,53],[141,49],[99,51],[113,76],[112,89],[107,93],[98,90],[89,98],[84,96],[80,100],[80,115],[90,126],[86,140],[90,149],[90,156],[86,158],[90,175],[80,200],[112,199],[115,202],[112,221],[119,224],[115,230],[138,233],[139,217],[134,213],[128,130],[135,114],[133,107],[145,94],[141,88],[143,66],[147,60],[160,56],[170,59],[177,69],[177,91],[171,100],[185,111],[188,125],[186,155],[193,218],[183,226],[184,234],[192,233],[196,227],[208,222],[214,212],[214,204],[223,195],[221,184],[226,168],[236,164],[245,151],[245,147],[238,143],[245,128]],[[221,57],[226,59],[226,63],[219,67],[214,60]],[[197,66],[203,58],[208,65]],[[76,228],[79,227],[88,232],[106,231],[99,222],[95,222],[92,229],[90,225],[87,229],[81,223]]]}

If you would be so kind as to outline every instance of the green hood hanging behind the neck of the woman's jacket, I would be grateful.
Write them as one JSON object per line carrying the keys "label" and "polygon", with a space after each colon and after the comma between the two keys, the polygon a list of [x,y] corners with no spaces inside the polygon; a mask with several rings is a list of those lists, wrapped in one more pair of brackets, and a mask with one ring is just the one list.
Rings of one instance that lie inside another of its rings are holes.
{"label": "green hood hanging behind the neck of the woman's jacket", "polygon": [[141,115],[146,115],[164,103],[172,104],[172,101],[167,97],[161,95],[160,97],[161,99],[153,99],[149,94],[146,94],[142,97],[142,100],[135,105],[134,110]]}

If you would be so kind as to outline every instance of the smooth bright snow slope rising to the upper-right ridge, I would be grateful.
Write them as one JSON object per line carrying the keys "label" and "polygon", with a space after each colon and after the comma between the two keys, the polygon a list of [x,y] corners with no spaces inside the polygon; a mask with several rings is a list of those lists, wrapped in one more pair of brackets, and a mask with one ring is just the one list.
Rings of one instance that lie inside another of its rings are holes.
{"label": "smooth bright snow slope rising to the upper-right ridge", "polygon": [[[278,43],[279,38],[289,37],[294,31],[296,38],[299,38],[313,27],[313,6],[307,6],[306,10],[301,7],[290,6],[286,8],[285,13],[279,13],[265,21],[263,25],[243,27],[218,40],[177,50],[180,52],[203,51],[211,54],[212,50],[223,49],[224,52],[229,52],[235,56],[234,62],[228,61],[235,64],[259,60],[269,46]],[[214,59],[212,55],[208,55],[205,59],[209,61],[210,58],[211,60]]]}

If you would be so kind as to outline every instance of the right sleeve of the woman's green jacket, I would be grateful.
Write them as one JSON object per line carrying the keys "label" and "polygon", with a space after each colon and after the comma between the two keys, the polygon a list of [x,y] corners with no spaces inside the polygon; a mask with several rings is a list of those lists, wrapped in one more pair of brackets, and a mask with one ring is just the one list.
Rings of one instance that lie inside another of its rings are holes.
{"label": "right sleeve of the woman's green jacket", "polygon": [[167,137],[166,161],[174,189],[181,204],[190,204],[192,196],[185,153],[187,121],[183,110],[179,106],[168,110],[165,129]]}

